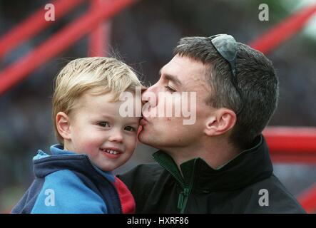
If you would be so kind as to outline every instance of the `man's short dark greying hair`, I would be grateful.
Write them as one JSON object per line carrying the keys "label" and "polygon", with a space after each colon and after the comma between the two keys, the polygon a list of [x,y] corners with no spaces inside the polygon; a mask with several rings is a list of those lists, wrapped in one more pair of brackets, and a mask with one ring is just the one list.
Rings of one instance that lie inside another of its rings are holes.
{"label": "man's short dark greying hair", "polygon": [[205,100],[214,108],[229,108],[235,113],[243,102],[243,110],[230,135],[230,142],[246,149],[262,133],[277,107],[278,80],[272,62],[263,53],[243,43],[237,43],[235,71],[240,95],[232,83],[230,65],[215,50],[210,38],[181,38],[174,54],[193,58],[205,64],[211,94]]}

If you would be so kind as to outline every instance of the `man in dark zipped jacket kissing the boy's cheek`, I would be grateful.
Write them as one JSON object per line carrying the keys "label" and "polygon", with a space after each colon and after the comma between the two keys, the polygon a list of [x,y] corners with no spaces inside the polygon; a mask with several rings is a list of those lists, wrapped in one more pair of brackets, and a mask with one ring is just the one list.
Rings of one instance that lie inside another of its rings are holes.
{"label": "man in dark zipped jacket kissing the boy's cheek", "polygon": [[[174,54],[142,97],[138,138],[159,149],[158,164],[120,176],[136,213],[304,213],[272,174],[261,134],[277,106],[272,63],[225,34],[182,38]],[[158,93],[183,92],[196,94],[194,124],[151,115]]]}

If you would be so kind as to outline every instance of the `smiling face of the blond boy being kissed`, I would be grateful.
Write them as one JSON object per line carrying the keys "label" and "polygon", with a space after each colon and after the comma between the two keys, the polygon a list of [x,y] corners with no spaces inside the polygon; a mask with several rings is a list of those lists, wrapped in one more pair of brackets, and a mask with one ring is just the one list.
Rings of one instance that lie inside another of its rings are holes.
{"label": "smiling face of the blond boy being kissed", "polygon": [[131,157],[140,119],[122,117],[119,108],[123,102],[110,102],[112,96],[85,93],[68,115],[70,134],[65,150],[88,155],[103,171],[114,170]]}

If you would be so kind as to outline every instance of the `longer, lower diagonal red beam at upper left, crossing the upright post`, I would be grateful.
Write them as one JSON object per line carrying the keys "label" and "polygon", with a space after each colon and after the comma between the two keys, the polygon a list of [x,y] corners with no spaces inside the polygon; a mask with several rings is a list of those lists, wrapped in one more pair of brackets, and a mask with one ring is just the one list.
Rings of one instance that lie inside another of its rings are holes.
{"label": "longer, lower diagonal red beam at upper left, crossing the upright post", "polygon": [[89,11],[81,18],[73,21],[60,32],[51,36],[46,42],[31,51],[16,63],[7,67],[0,73],[0,95],[21,80],[29,76],[42,64],[49,61],[58,53],[71,46],[79,38],[93,30],[101,21],[118,14],[119,11],[136,2],[135,0],[116,0],[105,4],[103,8]]}

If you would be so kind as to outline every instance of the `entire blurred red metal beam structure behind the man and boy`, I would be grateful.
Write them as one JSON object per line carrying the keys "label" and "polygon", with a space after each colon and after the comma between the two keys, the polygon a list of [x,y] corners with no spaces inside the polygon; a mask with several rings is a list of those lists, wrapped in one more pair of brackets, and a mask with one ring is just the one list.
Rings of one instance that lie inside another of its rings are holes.
{"label": "entire blurred red metal beam structure behind the man and boy", "polygon": [[[88,56],[106,55],[110,23],[105,21],[109,21],[119,11],[135,2],[136,0],[91,0],[91,8],[86,14],[0,72],[0,95],[88,33],[90,34]],[[56,19],[82,3],[83,0],[53,1]],[[263,53],[272,51],[298,33],[315,13],[316,4],[292,14],[250,43],[250,46]],[[51,24],[51,21],[44,20],[44,14],[43,7],[0,38],[0,59],[20,43],[32,38]],[[316,164],[316,128],[270,127],[266,128],[263,134],[274,162]],[[298,199],[307,212],[315,212],[316,186],[306,190]]]}

